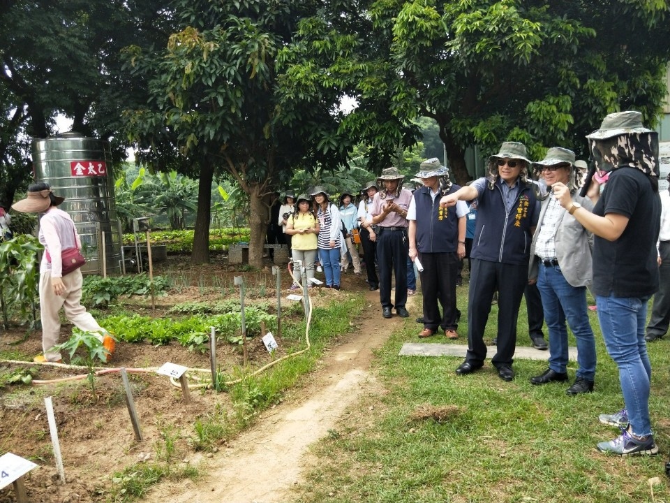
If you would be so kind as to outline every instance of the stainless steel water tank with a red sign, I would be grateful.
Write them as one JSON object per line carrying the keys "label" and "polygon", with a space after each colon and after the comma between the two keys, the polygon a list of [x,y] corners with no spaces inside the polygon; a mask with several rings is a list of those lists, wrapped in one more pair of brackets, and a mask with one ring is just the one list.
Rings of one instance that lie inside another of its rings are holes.
{"label": "stainless steel water tank with a red sign", "polygon": [[64,196],[87,259],[82,272],[102,274],[103,242],[108,274],[120,271],[121,226],[114,205],[110,144],[79,133],[64,133],[33,143],[35,179]]}

